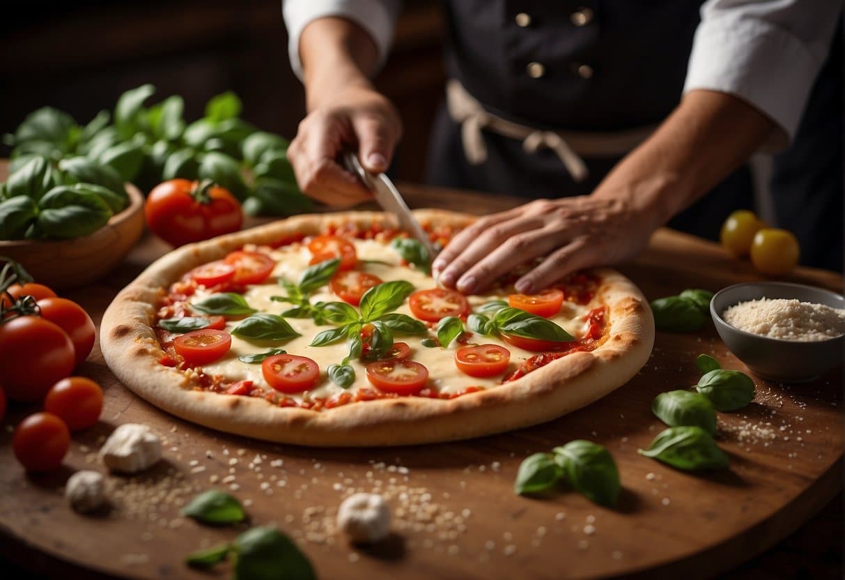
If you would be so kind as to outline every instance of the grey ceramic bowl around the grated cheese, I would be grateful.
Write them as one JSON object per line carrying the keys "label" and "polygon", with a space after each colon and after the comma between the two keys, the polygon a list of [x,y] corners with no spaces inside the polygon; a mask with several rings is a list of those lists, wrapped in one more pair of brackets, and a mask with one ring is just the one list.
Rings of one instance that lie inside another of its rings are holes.
{"label": "grey ceramic bowl around the grated cheese", "polygon": [[759,298],[797,298],[802,302],[845,308],[845,298],[822,288],[788,282],[749,282],[722,288],[710,302],[713,324],[736,358],[764,379],[804,382],[834,369],[845,358],[845,336],[798,342],[760,337],[722,320],[722,312],[740,302]]}

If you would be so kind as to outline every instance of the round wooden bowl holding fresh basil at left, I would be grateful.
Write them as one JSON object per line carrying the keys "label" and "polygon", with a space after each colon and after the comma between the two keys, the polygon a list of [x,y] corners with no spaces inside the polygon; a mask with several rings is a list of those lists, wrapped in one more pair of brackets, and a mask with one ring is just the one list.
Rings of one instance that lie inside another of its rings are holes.
{"label": "round wooden bowl holding fresh basil at left", "polygon": [[144,194],[126,184],[128,207],[105,226],[81,238],[0,241],[0,256],[23,264],[35,282],[73,288],[105,276],[144,233]]}

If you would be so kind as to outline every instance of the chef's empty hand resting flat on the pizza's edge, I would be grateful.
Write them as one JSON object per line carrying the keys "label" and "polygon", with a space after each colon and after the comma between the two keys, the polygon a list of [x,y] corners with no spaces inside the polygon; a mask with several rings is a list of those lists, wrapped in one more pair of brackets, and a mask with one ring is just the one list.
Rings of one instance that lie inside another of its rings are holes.
{"label": "chef's empty hand resting flat on the pizza's edge", "polygon": [[516,282],[532,294],[572,271],[626,260],[646,246],[651,219],[628,202],[583,195],[536,200],[482,217],[455,236],[434,260],[445,287],[480,293],[515,265],[545,258]]}

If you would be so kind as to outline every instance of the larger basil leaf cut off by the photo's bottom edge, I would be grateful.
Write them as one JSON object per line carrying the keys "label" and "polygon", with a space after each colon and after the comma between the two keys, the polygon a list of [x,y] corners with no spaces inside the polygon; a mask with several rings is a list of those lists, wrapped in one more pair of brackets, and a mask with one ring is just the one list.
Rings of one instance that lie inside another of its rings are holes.
{"label": "larger basil leaf cut off by the photo's bottom edge", "polygon": [[237,536],[236,580],[316,580],[308,558],[277,528],[252,528]]}

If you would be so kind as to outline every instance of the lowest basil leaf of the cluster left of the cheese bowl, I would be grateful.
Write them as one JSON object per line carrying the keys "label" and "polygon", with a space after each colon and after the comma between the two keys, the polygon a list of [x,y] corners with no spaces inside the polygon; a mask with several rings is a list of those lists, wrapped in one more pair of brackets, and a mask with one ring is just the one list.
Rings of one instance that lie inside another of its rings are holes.
{"label": "lowest basil leaf of the cluster left of the cheese bowl", "polygon": [[701,427],[669,427],[662,431],[640,455],[657,459],[676,469],[721,469],[728,467],[728,456]]}

